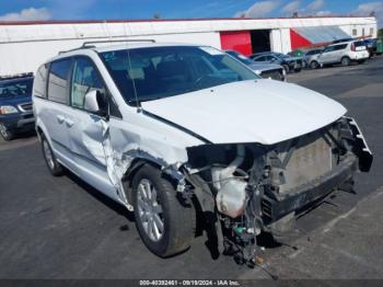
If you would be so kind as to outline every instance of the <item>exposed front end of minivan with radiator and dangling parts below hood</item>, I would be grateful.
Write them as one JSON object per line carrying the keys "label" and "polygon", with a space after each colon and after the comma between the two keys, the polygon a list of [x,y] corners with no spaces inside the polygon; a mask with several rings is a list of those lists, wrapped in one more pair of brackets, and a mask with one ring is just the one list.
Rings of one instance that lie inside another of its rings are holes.
{"label": "exposed front end of minivan with radiator and dangling parts below hood", "polygon": [[204,145],[187,152],[185,177],[202,211],[216,216],[223,252],[243,264],[254,264],[260,232],[280,236],[307,205],[372,162],[357,124],[346,117],[277,145]]}

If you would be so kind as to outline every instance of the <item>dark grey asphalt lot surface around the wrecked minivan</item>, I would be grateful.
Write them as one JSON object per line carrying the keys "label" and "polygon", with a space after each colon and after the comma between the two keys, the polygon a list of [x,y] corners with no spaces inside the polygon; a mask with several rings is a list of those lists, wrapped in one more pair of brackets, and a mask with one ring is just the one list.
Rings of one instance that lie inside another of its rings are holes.
{"label": "dark grey asphalt lot surface around the wrecked minivan", "polygon": [[383,57],[305,70],[289,82],[348,108],[374,152],[356,194],[336,192],[298,220],[283,245],[265,243],[263,267],[213,259],[206,234],[171,259],[141,242],[134,217],[67,173],[50,176],[33,135],[0,140],[0,278],[383,278]]}

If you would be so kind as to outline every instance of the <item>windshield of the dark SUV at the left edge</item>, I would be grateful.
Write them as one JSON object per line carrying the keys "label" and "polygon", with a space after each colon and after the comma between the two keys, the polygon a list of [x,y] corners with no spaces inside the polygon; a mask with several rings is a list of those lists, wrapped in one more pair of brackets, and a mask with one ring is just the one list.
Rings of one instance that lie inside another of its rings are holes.
{"label": "windshield of the dark SUV at the left edge", "polygon": [[0,99],[31,96],[33,79],[0,82]]}

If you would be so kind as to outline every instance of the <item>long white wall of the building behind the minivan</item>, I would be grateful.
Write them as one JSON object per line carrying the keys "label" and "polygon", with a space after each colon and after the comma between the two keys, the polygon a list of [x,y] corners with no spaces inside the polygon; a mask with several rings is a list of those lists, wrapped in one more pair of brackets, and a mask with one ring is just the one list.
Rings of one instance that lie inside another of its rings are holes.
{"label": "long white wall of the building behind the minivan", "polygon": [[84,41],[143,37],[221,48],[220,32],[271,30],[271,50],[291,50],[290,28],[338,25],[344,31],[374,28],[374,18],[243,19],[197,21],[136,21],[92,23],[0,23],[0,74],[35,71],[59,50]]}

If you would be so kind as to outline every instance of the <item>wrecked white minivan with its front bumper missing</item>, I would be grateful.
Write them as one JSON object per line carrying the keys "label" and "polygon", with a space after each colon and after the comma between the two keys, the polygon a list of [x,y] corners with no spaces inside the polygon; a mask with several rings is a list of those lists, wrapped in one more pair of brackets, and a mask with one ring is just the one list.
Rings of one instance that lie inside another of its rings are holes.
{"label": "wrecked white minivan with its front bumper missing", "polygon": [[159,256],[198,226],[254,263],[260,232],[282,236],[372,162],[343,105],[209,46],[85,43],[39,67],[33,106],[50,173],[134,211]]}

